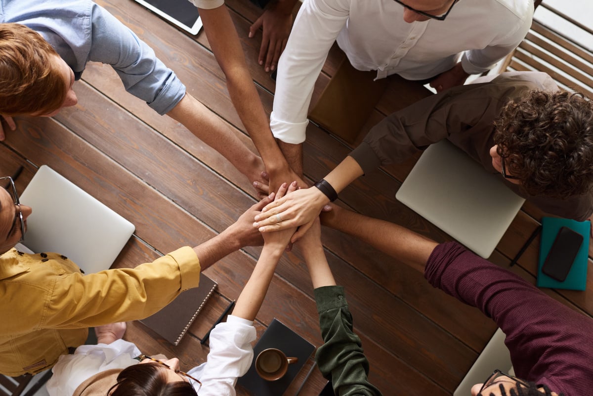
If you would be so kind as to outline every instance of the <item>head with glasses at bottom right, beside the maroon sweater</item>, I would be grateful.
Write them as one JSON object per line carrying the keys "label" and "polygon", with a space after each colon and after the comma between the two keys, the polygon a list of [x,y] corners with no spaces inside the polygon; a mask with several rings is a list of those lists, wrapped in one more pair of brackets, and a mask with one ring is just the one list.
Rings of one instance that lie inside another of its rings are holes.
{"label": "head with glasses at bottom right, beside the maroon sweater", "polygon": [[471,396],[564,396],[564,394],[556,394],[546,385],[523,381],[495,370],[483,384],[471,387]]}

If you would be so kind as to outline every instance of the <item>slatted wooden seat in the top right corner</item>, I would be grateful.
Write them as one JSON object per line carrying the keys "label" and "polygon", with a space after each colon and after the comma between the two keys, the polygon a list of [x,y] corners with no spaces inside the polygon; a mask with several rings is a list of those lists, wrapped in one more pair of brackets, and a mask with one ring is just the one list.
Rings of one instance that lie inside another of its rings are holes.
{"label": "slatted wooden seat in the top right corner", "polygon": [[[593,49],[587,47],[593,42],[593,30],[544,2],[536,1],[535,7],[538,5],[538,10],[546,9],[558,23],[548,25],[538,21],[535,14],[527,37],[502,63],[500,71],[546,72],[563,90],[578,91],[593,99]],[[576,43],[559,30],[560,24],[581,30],[591,40]]]}

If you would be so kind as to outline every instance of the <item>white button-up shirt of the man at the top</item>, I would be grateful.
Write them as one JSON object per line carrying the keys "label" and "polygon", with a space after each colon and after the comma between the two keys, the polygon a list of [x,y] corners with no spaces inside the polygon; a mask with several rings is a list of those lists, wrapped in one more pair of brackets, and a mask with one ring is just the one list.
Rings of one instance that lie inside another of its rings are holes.
{"label": "white button-up shirt of the man at the top", "polygon": [[359,70],[377,78],[426,79],[458,62],[486,71],[524,39],[533,0],[459,0],[445,21],[406,23],[393,0],[304,0],[280,57],[270,127],[286,143],[305,140],[317,76],[334,40]]}

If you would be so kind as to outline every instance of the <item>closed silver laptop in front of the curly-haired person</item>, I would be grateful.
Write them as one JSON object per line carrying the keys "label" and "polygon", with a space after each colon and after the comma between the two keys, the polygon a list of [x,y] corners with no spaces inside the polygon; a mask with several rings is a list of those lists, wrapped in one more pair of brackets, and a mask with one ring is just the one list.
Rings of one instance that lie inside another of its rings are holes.
{"label": "closed silver laptop in front of the curly-haired person", "polygon": [[448,140],[423,152],[396,198],[484,258],[525,202]]}

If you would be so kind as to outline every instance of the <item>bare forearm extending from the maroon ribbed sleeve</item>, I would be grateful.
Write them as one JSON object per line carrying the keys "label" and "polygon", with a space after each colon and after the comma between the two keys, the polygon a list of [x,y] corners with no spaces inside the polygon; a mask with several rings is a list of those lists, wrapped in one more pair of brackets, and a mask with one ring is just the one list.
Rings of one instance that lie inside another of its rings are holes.
{"label": "bare forearm extending from the maroon ribbed sleeve", "polygon": [[334,206],[334,210],[321,214],[321,223],[353,237],[424,271],[428,257],[437,243],[416,232],[394,223],[370,218]]}

